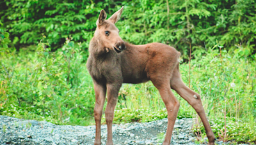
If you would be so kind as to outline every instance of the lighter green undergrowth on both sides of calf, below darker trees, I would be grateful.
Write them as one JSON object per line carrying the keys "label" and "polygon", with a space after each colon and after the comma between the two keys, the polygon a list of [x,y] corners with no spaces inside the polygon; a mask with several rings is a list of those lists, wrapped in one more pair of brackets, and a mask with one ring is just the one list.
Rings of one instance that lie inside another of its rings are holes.
{"label": "lighter green undergrowth on both sides of calf, below darker trees", "polygon": [[[4,46],[0,53],[1,115],[60,125],[93,125],[93,83],[85,66],[87,53],[81,45],[68,37],[56,52],[51,52],[44,41],[16,52],[5,45],[8,41],[0,44]],[[237,45],[227,52],[218,43],[213,48],[195,50],[192,55],[195,59],[190,64],[180,64],[180,73],[184,83],[201,95],[216,137],[255,142],[256,55],[247,46]],[[188,102],[173,93],[180,102],[178,118],[195,117]],[[124,84],[114,123],[161,120],[167,116],[164,107],[151,82]],[[228,131],[225,137],[224,118]],[[200,130],[204,136],[202,125]]]}

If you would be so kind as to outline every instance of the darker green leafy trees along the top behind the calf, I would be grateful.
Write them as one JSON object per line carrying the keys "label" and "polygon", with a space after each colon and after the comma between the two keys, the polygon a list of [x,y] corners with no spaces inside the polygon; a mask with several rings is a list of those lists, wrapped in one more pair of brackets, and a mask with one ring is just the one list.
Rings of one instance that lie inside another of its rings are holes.
{"label": "darker green leafy trees along the top behind the calf", "polygon": [[100,10],[109,17],[123,5],[116,25],[120,36],[131,43],[166,43],[182,52],[184,59],[190,48],[208,49],[216,41],[228,50],[241,44],[255,53],[254,0],[4,0],[0,5],[4,28],[12,39],[19,39],[19,47],[35,45],[44,33],[54,50],[69,35],[88,48]]}

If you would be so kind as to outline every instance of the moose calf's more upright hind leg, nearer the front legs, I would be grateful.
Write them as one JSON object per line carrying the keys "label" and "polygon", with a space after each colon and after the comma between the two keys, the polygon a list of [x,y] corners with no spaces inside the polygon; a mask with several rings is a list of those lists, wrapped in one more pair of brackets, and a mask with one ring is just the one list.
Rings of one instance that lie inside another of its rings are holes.
{"label": "moose calf's more upright hind leg, nearer the front legs", "polygon": [[154,84],[154,86],[156,86],[156,88],[159,90],[159,93],[161,95],[161,98],[163,99],[163,102],[166,106],[166,110],[168,113],[168,126],[163,144],[169,145],[171,142],[172,131],[175,124],[175,120],[177,118],[180,104],[172,93],[172,90],[170,88],[170,82],[166,81],[165,83],[163,83],[163,81],[157,81],[154,79],[151,79],[151,81]]}

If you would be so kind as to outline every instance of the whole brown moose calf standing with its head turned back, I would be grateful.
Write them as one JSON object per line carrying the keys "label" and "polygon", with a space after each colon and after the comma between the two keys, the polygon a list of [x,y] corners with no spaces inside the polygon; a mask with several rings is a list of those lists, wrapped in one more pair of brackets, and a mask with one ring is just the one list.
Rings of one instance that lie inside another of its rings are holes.
{"label": "whole brown moose calf standing with its head turned back", "polygon": [[86,66],[93,78],[95,90],[96,135],[94,144],[101,144],[100,121],[106,93],[108,93],[108,104],[105,114],[108,127],[107,144],[109,145],[113,144],[112,122],[118,91],[122,83],[144,83],[150,80],[159,90],[168,112],[168,127],[163,144],[170,144],[173,125],[180,106],[171,91],[172,88],[196,110],[204,123],[209,144],[213,145],[215,137],[206,118],[200,95],[182,82],[178,61],[180,53],[175,48],[162,43],[147,45],[125,43],[115,27],[123,9],[124,7],[116,11],[108,20],[106,20],[106,12],[101,10],[96,22],[97,29],[90,41],[90,55]]}

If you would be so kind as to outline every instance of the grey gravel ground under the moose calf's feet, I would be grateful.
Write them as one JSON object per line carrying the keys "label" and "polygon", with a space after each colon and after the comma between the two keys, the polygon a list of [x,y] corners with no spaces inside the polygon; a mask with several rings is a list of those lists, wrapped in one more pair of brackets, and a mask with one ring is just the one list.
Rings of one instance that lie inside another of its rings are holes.
{"label": "grey gravel ground under the moose calf's feet", "polygon": [[[191,131],[193,119],[175,121],[171,144],[195,144]],[[107,126],[101,126],[102,144],[106,144]],[[167,119],[148,123],[113,125],[114,144],[161,144]],[[0,116],[0,144],[93,144],[95,126],[54,125],[47,121],[22,120]],[[206,139],[206,138],[205,138]],[[216,142],[223,144],[223,142]]]}

